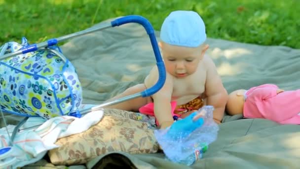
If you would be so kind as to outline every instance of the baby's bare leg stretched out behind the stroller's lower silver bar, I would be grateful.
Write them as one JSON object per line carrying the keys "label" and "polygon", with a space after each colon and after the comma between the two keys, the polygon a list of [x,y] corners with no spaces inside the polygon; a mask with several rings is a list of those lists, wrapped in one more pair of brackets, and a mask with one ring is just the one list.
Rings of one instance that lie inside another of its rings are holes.
{"label": "baby's bare leg stretched out behind the stroller's lower silver bar", "polygon": [[[137,84],[132,87],[127,88],[124,92],[122,92],[119,95],[114,96],[113,98],[109,99],[108,101],[112,101],[124,96],[128,96],[131,94],[139,93],[141,91],[146,90],[145,84]],[[111,108],[111,109],[120,109],[120,110],[126,110],[126,111],[133,111],[138,112],[139,108],[152,102],[151,97],[138,97],[135,99],[127,100],[118,104],[114,104],[112,106],[108,106],[105,108]]]}

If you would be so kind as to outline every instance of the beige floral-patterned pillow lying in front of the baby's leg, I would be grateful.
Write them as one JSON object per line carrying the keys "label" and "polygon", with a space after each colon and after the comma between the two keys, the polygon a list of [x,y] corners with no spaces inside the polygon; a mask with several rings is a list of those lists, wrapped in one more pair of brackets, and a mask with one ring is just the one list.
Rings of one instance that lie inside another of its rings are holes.
{"label": "beige floral-patterned pillow lying in front of the baby's leg", "polygon": [[[156,153],[154,119],[139,113],[105,109],[103,119],[85,132],[60,138],[48,155],[54,165],[84,164],[110,152]],[[152,121],[152,123],[150,123]]]}

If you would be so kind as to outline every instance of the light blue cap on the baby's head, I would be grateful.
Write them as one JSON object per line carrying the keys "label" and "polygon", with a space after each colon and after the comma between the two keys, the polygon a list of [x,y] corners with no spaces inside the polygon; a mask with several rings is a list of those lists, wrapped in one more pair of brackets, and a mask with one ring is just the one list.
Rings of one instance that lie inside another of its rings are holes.
{"label": "light blue cap on the baby's head", "polygon": [[204,22],[194,11],[171,12],[162,23],[160,39],[171,45],[198,47],[206,40]]}

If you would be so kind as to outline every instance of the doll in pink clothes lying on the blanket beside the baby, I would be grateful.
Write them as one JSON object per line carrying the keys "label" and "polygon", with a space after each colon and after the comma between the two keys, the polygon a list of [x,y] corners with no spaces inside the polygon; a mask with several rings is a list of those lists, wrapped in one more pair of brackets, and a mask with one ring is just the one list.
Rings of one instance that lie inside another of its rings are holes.
{"label": "doll in pink clothes lying on the blanket beside the baby", "polygon": [[279,124],[300,124],[300,89],[284,91],[274,84],[232,91],[225,108],[229,115],[268,119]]}

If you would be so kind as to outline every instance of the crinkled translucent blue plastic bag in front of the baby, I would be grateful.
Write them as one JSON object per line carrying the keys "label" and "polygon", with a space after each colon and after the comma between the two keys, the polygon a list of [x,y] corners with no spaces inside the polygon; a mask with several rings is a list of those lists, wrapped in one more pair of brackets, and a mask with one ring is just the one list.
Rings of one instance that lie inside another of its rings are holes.
{"label": "crinkled translucent blue plastic bag in front of the baby", "polygon": [[[219,126],[213,120],[213,110],[213,106],[204,106],[166,129],[154,130],[159,145],[170,161],[190,166],[202,158],[208,145],[218,135]],[[203,117],[193,121],[197,114]]]}

